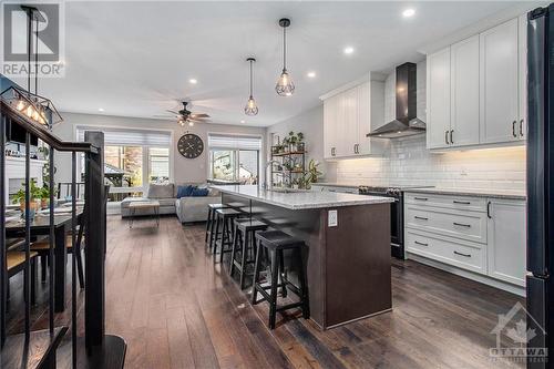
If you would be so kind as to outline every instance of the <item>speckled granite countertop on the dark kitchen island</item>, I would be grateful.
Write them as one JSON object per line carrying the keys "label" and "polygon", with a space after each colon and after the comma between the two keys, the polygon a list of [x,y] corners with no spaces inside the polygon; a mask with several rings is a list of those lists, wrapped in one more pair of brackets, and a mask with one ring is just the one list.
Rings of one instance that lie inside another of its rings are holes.
{"label": "speckled granite countertop on the dark kitchen island", "polygon": [[365,195],[343,194],[335,192],[267,191],[256,185],[213,186],[213,187],[223,193],[256,199],[263,203],[285,207],[293,211],[308,209],[308,208],[353,206],[353,205],[371,205],[371,204],[383,204],[393,202],[393,198],[391,197],[365,196]]}

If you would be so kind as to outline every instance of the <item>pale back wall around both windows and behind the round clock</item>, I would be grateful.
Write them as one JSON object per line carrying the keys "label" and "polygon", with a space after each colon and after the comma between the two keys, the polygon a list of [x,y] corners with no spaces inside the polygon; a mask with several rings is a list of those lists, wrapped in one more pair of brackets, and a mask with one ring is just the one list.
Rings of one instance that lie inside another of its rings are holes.
{"label": "pale back wall around both windows and behind the round clock", "polygon": [[[53,132],[62,140],[75,140],[75,126],[113,126],[113,127],[130,127],[130,129],[148,129],[148,130],[168,130],[173,133],[173,167],[172,176],[177,183],[179,182],[204,182],[207,178],[207,134],[208,132],[233,133],[233,134],[254,134],[265,137],[266,129],[249,127],[240,125],[225,125],[197,123],[193,127],[182,127],[173,121],[148,120],[125,116],[111,115],[93,115],[93,114],[76,114],[62,113],[64,121],[54,126]],[[204,141],[205,150],[201,156],[194,160],[183,157],[177,151],[178,139],[186,132],[195,133]],[[264,148],[260,153],[260,165],[264,164]],[[57,181],[71,180],[71,155],[57,153],[55,156]]]}

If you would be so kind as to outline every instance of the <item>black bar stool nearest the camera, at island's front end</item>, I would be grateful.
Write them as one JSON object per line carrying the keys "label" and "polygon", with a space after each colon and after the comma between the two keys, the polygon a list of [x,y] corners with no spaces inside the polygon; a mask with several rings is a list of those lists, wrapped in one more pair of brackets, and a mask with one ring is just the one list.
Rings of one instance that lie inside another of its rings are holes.
{"label": "black bar stool nearest the camera, at island's front end", "polygon": [[[304,265],[301,256],[301,249],[302,247],[305,247],[304,240],[291,237],[280,230],[266,230],[256,234],[256,242],[257,242],[257,252],[256,252],[256,262],[254,265],[254,287],[252,290],[252,304],[256,305],[263,300],[269,303],[269,329],[275,328],[275,318],[277,311],[301,307],[304,318],[305,319],[309,318],[308,291],[306,289],[306,277],[304,275]],[[267,249],[271,256],[271,284],[269,286],[261,286],[261,284],[258,283],[261,248]],[[285,249],[293,250],[294,260],[299,266],[298,279],[300,286],[298,287],[288,281],[284,276],[285,270],[284,270],[283,250]],[[279,276],[281,278],[280,284],[278,280]],[[277,306],[277,287],[283,288],[284,297],[286,296],[287,287],[290,288],[290,290],[295,295],[297,295],[300,298],[300,300],[284,306]],[[270,293],[268,294],[266,289],[270,289]],[[259,293],[264,297],[259,301],[256,300],[257,293]]]}

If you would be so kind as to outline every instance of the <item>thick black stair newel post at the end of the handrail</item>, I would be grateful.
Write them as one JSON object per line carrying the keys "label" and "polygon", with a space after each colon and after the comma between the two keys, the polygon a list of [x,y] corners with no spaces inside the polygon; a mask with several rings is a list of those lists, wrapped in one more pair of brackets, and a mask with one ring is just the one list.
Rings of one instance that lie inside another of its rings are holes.
{"label": "thick black stair newel post at the end of the handrail", "polygon": [[[85,155],[85,346],[88,353],[104,344],[105,330],[105,214],[104,187],[104,134],[84,133],[84,141],[98,148]],[[93,216],[89,216],[89,214]]]}

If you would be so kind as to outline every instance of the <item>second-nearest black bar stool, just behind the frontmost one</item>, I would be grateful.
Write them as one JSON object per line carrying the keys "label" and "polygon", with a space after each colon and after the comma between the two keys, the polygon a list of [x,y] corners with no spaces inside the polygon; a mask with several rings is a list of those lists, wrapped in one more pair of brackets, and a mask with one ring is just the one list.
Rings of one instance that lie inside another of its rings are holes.
{"label": "second-nearest black bar stool, just behind the frontmost one", "polygon": [[[235,233],[233,235],[233,250],[230,253],[229,276],[233,278],[235,268],[240,273],[240,289],[245,288],[246,266],[254,260],[247,260],[247,255],[253,244],[255,233],[266,230],[267,224],[256,219],[235,219]],[[240,259],[236,260],[237,248],[240,249]]]}

